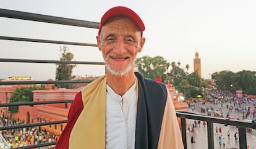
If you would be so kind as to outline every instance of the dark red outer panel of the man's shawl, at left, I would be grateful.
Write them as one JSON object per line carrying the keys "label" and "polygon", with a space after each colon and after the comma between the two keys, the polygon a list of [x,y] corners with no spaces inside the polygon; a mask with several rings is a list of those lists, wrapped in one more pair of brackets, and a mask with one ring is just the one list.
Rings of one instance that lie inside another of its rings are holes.
{"label": "dark red outer panel of the man's shawl, at left", "polygon": [[61,137],[59,138],[55,149],[68,149],[69,148],[69,136],[74,127],[77,118],[81,111],[83,110],[83,100],[82,100],[82,93],[78,92],[75,95],[74,102],[72,103],[69,115],[67,116],[67,125],[64,131],[61,133]]}

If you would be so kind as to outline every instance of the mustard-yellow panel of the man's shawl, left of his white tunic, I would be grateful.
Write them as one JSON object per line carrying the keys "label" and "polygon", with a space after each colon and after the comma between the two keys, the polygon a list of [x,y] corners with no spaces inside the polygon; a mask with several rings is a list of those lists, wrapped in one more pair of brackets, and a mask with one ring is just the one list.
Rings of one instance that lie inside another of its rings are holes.
{"label": "mustard-yellow panel of the man's shawl, left of his white tunic", "polygon": [[106,75],[82,89],[83,110],[69,138],[69,149],[105,148]]}

